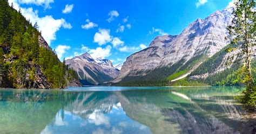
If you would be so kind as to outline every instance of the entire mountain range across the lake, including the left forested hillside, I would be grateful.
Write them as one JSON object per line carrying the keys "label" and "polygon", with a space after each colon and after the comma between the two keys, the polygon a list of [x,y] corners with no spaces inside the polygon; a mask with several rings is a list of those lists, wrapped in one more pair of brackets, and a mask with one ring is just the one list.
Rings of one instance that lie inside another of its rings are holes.
{"label": "entire mountain range across the lake, including the left forested hillside", "polygon": [[[240,84],[239,50],[228,39],[233,7],[197,19],[180,34],[157,36],[123,64],[84,53],[64,63],[21,12],[0,1],[0,87],[83,85],[202,86]],[[253,48],[255,53],[256,48]],[[256,60],[252,62],[253,75]]]}

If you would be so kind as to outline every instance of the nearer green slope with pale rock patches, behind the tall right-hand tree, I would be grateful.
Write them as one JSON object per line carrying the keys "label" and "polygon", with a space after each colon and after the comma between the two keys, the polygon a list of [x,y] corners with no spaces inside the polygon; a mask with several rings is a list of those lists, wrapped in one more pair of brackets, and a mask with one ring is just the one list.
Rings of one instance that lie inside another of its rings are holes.
{"label": "nearer green slope with pale rock patches, behind the tall right-hand tree", "polygon": [[[233,47],[233,45],[228,45],[214,54],[213,57],[207,59],[189,75],[189,79],[214,86],[240,85],[242,83],[240,81],[242,76],[239,71],[242,67],[242,59],[237,56],[240,50],[228,52],[228,50],[232,50],[231,48]],[[255,47],[252,50],[254,53],[256,52]],[[254,79],[256,75],[255,70],[256,60],[254,55],[252,62],[252,74]]]}

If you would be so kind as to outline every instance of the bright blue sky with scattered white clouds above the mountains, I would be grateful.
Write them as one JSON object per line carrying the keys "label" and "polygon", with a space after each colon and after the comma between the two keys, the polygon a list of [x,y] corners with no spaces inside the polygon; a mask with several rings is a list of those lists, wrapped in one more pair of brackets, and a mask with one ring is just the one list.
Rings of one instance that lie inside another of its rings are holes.
{"label": "bright blue sky with scattered white clouds above the mountains", "polygon": [[179,34],[232,0],[9,0],[39,30],[60,60],[89,52],[119,64],[154,37]]}

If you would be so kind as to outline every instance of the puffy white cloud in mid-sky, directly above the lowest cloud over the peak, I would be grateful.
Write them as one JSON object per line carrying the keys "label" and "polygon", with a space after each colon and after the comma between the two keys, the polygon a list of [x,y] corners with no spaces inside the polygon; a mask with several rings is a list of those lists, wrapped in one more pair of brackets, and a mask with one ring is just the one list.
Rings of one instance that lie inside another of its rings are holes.
{"label": "puffy white cloud in mid-sky, directly above the lowest cloud over the peak", "polygon": [[95,43],[98,43],[101,46],[101,45],[104,45],[106,43],[109,43],[111,40],[112,39],[111,39],[111,36],[110,36],[110,30],[99,29],[99,31],[95,33],[93,41]]}

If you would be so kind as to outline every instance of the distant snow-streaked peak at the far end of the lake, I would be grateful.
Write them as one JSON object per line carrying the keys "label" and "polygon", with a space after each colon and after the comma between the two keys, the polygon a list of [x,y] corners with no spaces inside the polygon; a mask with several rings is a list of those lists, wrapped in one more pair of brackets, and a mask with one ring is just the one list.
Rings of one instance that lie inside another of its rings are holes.
{"label": "distant snow-streaked peak at the far end of the lake", "polygon": [[66,65],[78,73],[82,84],[100,84],[113,80],[119,75],[119,70],[113,67],[110,60],[93,59],[89,53],[66,60]]}

